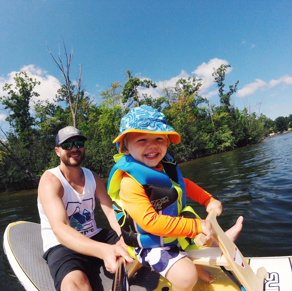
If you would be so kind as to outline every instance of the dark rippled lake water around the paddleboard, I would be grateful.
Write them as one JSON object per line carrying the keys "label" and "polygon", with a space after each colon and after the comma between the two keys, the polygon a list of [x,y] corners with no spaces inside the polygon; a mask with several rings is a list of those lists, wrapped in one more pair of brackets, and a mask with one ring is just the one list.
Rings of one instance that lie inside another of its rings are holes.
{"label": "dark rippled lake water around the paddleboard", "polygon": [[[213,194],[223,204],[222,229],[244,217],[236,245],[245,257],[292,255],[292,132],[272,136],[257,145],[180,164],[183,176]],[[1,246],[6,226],[25,220],[39,222],[36,190],[0,193]],[[192,201],[201,218],[205,208]],[[101,211],[99,223],[108,227]],[[2,291],[24,290],[0,251]]]}

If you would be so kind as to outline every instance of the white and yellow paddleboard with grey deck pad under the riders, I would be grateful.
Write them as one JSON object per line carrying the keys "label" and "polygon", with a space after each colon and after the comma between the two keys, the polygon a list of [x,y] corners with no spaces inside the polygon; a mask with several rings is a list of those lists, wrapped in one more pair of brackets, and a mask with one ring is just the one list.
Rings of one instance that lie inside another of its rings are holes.
{"label": "white and yellow paddleboard with grey deck pad under the riders", "polygon": [[[41,225],[33,222],[18,221],[10,223],[4,233],[4,251],[15,275],[27,291],[55,291],[53,280],[45,260],[42,258]],[[264,266],[267,270],[264,291],[290,291],[292,278],[292,257],[249,258],[246,262],[251,269]],[[195,290],[235,291],[238,287],[216,268],[206,267],[214,278],[214,283],[198,280]],[[102,264],[97,266],[96,282],[93,290],[109,291],[114,275],[105,270]],[[171,284],[152,269],[140,268],[129,278],[131,291],[172,291]]]}

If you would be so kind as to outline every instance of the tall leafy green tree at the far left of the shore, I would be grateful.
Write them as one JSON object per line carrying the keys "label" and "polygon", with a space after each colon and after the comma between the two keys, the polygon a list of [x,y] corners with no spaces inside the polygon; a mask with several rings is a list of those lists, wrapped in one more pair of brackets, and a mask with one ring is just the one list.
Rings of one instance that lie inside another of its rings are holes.
{"label": "tall leafy green tree at the far left of the shore", "polygon": [[7,134],[1,129],[4,137],[0,138],[1,160],[6,164],[12,163],[22,174],[38,183],[32,171],[36,129],[29,103],[33,97],[39,96],[34,87],[40,82],[29,78],[25,72],[16,73],[14,80],[14,85],[6,83],[3,87],[3,91],[8,91],[8,96],[0,97],[4,108],[10,113],[6,121],[11,127]]}

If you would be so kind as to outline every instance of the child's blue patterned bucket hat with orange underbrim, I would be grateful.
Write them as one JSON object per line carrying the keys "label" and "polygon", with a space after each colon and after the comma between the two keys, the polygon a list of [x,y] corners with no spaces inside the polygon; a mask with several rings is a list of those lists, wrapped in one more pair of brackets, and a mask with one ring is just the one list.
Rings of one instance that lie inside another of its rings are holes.
{"label": "child's blue patterned bucket hat with orange underbrim", "polygon": [[153,134],[167,134],[172,143],[180,142],[180,135],[167,124],[163,113],[147,105],[132,108],[121,119],[120,133],[112,142],[117,143],[117,149],[122,152],[123,138],[129,132],[142,132]]}

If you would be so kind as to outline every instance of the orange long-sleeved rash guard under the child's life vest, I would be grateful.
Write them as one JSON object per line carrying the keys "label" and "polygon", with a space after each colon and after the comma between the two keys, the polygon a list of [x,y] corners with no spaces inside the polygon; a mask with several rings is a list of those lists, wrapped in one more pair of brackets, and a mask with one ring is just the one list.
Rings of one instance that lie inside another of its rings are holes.
{"label": "orange long-sleeved rash guard under the child's life vest", "polygon": [[[211,194],[197,184],[189,179],[183,179],[187,197],[204,206],[214,200]],[[128,214],[146,232],[158,236],[187,236],[189,238],[202,233],[201,223],[198,219],[158,214],[147,197],[144,188],[126,173],[124,173],[121,180],[120,199]]]}

